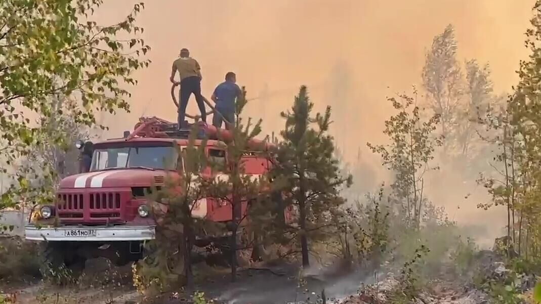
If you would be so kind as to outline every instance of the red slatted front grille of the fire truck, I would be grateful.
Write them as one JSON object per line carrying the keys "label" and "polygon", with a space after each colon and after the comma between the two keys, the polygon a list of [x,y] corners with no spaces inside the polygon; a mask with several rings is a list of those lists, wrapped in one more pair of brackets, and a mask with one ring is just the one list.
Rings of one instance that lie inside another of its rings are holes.
{"label": "red slatted front grille of the fire truck", "polygon": [[68,190],[57,194],[58,217],[65,222],[122,221],[123,207],[131,200],[131,190],[89,191]]}

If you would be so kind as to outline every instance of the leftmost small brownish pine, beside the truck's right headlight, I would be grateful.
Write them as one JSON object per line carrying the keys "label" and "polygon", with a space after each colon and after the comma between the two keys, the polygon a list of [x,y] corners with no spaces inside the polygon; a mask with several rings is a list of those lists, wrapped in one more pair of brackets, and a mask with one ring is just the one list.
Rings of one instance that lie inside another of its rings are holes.
{"label": "leftmost small brownish pine, beside the truck's right headlight", "polygon": [[[197,125],[190,132],[188,145],[180,147],[175,143],[177,157],[174,165],[177,171],[169,174],[163,187],[155,187],[150,195],[152,213],[155,217],[156,241],[150,243],[152,253],[143,262],[143,273],[151,282],[153,279],[161,287],[171,287],[184,277],[186,285],[193,287],[192,252],[197,230],[208,222],[197,216],[201,200],[206,198],[208,180],[201,172],[207,166],[205,149],[207,141],[196,144],[199,133]],[[167,164],[169,167],[170,165]],[[182,259],[179,259],[182,255]],[[183,271],[181,272],[181,270]]]}

